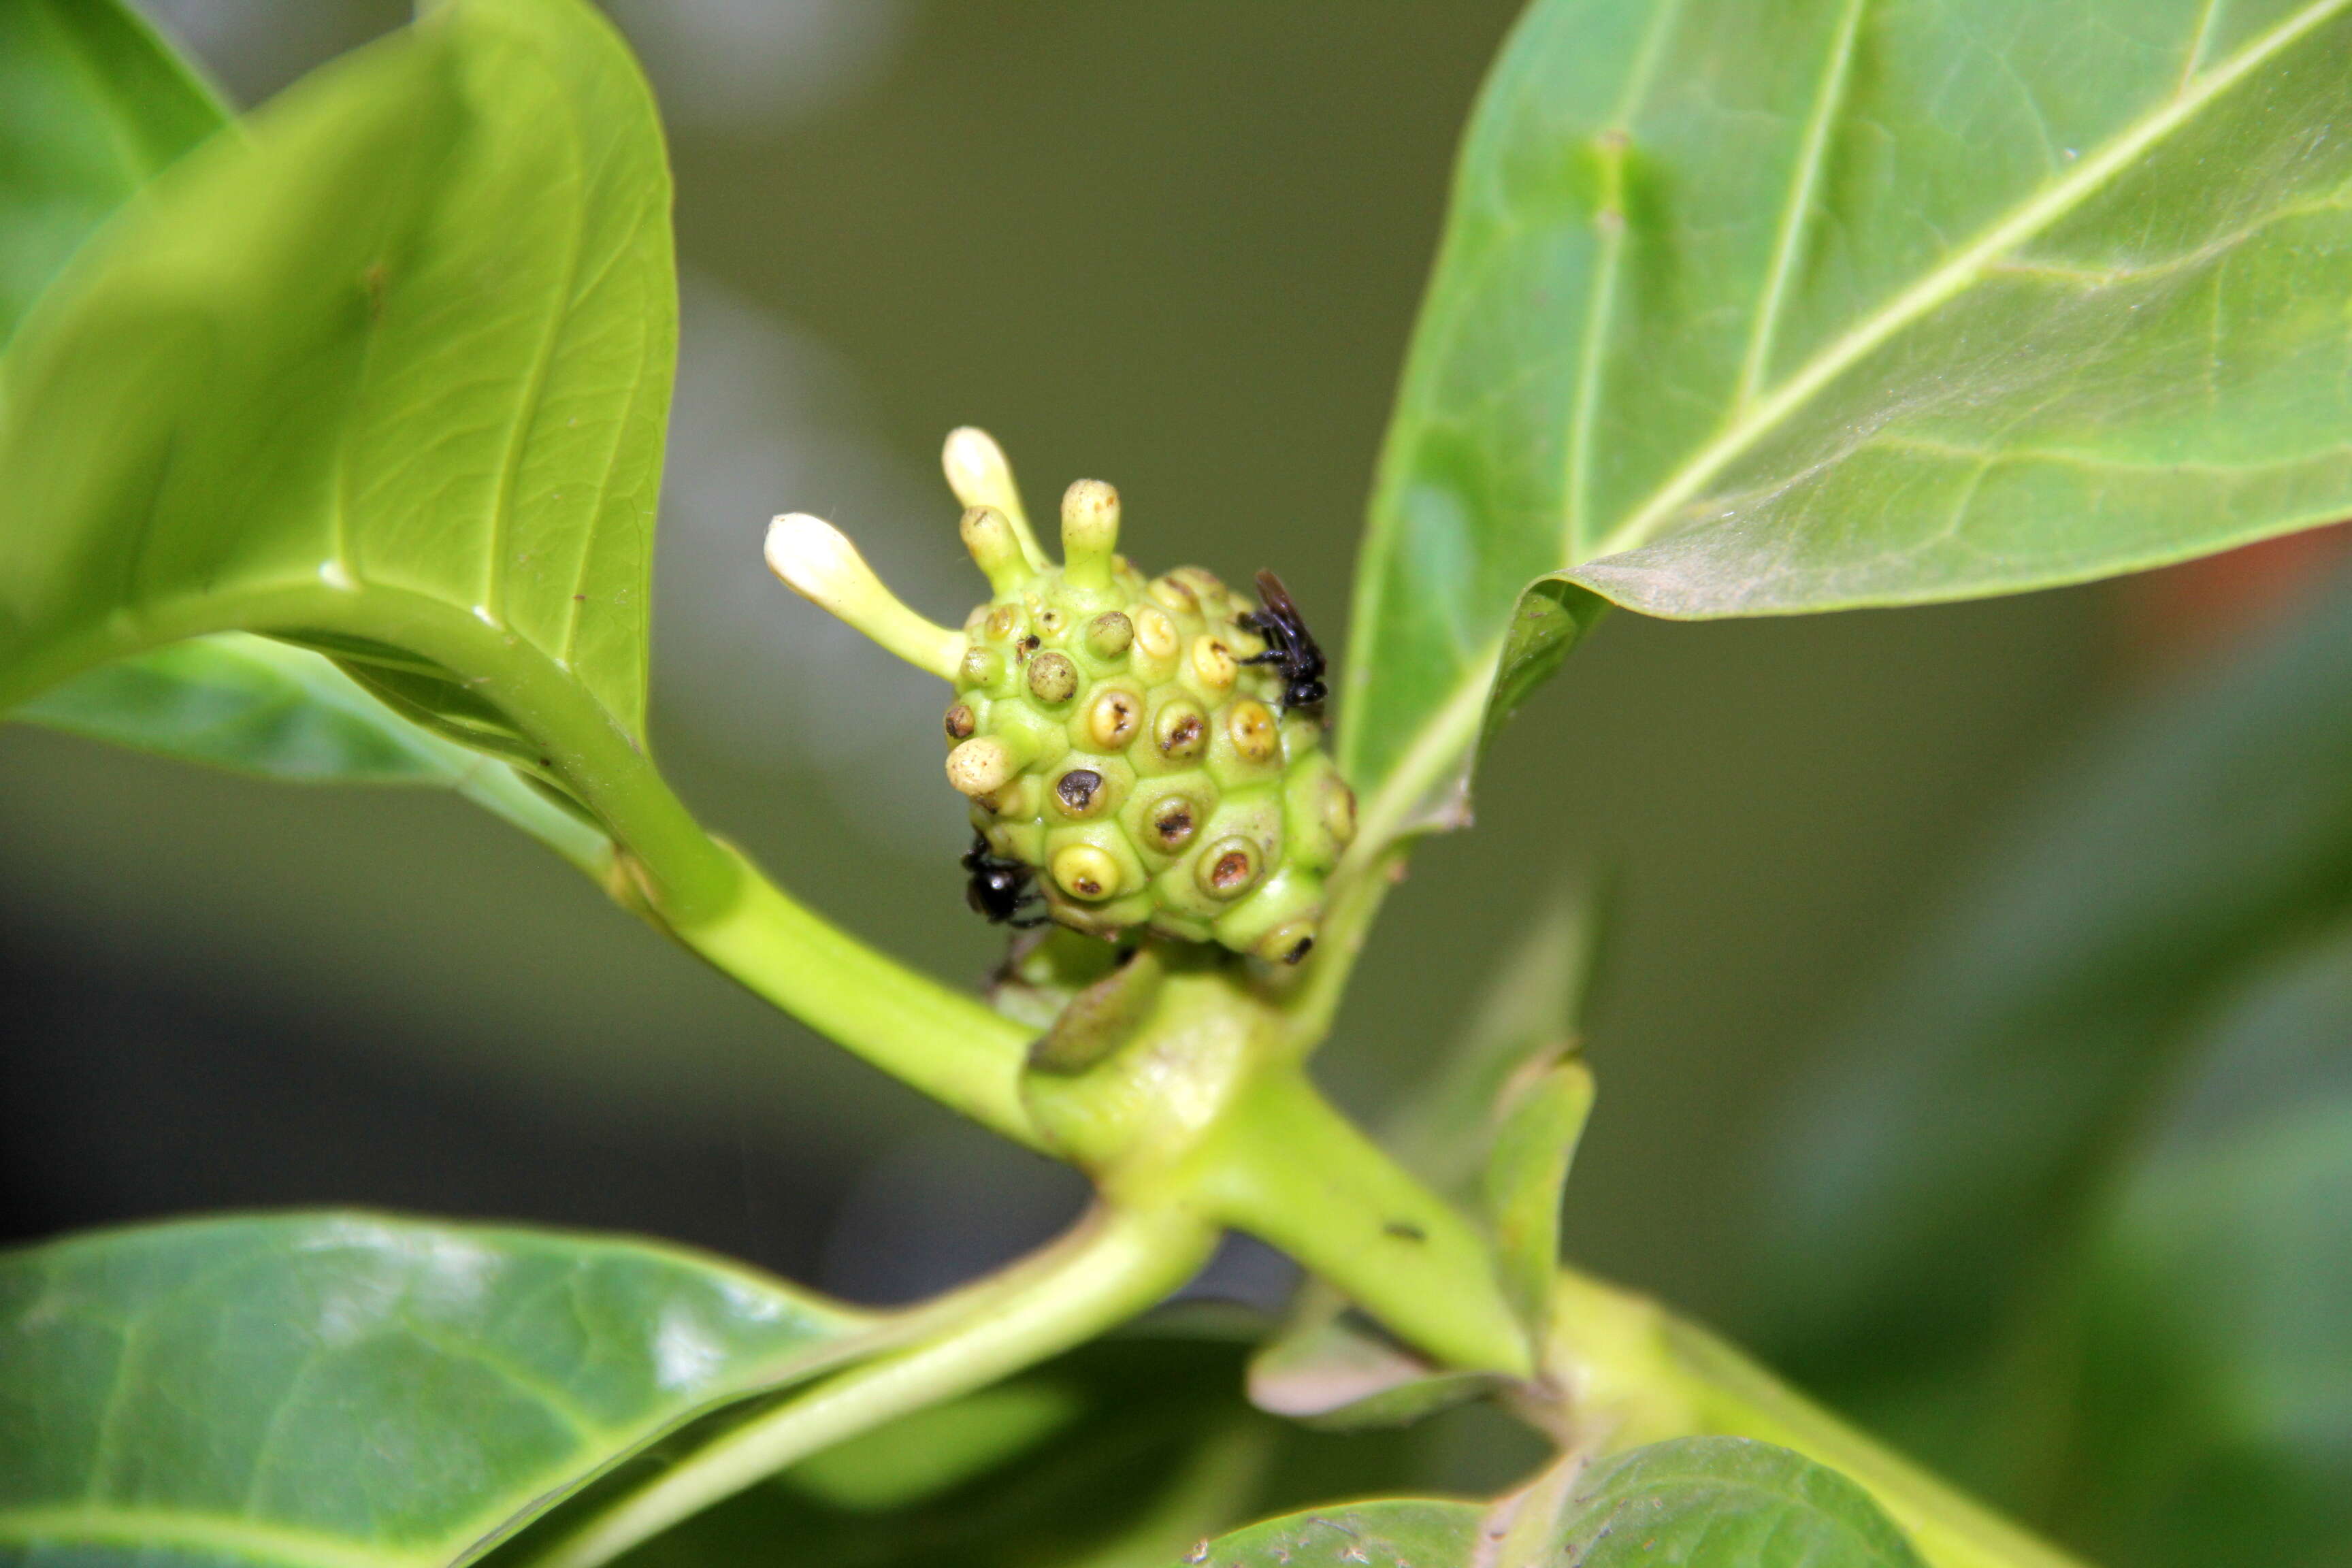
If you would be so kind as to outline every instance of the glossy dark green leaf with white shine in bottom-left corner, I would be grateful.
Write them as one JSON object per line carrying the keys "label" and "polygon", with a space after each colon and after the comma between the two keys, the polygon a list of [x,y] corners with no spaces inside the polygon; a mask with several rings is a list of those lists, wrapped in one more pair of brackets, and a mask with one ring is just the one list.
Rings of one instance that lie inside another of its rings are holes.
{"label": "glossy dark green leaf with white shine in bottom-left corner", "polygon": [[428,1568],[873,1319],[682,1248],[360,1213],[0,1258],[0,1556]]}

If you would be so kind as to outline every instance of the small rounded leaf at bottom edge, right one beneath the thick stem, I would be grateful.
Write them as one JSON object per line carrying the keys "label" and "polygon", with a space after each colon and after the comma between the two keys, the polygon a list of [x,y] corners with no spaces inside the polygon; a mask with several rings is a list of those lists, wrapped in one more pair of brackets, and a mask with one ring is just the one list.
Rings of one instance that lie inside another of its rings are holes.
{"label": "small rounded leaf at bottom edge, right one beneath the thick stem", "polygon": [[1581,1568],[1922,1568],[1860,1486],[1738,1436],[1602,1460],[1569,1490],[1550,1549]]}

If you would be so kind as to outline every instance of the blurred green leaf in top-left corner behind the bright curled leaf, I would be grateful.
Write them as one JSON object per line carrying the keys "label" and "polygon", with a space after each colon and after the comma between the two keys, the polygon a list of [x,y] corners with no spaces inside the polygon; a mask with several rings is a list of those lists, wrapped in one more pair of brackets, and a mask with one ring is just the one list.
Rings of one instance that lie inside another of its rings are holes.
{"label": "blurred green leaf in top-left corner behind the bright curled leaf", "polygon": [[115,0],[0,5],[0,343],[66,256],[228,110]]}

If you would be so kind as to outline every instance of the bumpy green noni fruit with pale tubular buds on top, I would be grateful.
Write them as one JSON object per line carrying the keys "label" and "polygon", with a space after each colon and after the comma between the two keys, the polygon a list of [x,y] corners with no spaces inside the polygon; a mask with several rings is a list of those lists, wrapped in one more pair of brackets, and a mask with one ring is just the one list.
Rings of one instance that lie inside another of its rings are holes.
{"label": "bumpy green noni fruit with pale tubular buds on top", "polygon": [[948,437],[964,548],[990,599],[962,632],[898,604],[814,517],[779,517],[769,564],[795,590],[955,684],[948,783],[988,849],[1035,872],[1056,922],[1148,926],[1296,961],[1355,797],[1319,717],[1240,623],[1254,607],[1197,567],[1145,578],[1117,555],[1120,496],[1063,496],[1063,564],[1037,548],[995,442]]}

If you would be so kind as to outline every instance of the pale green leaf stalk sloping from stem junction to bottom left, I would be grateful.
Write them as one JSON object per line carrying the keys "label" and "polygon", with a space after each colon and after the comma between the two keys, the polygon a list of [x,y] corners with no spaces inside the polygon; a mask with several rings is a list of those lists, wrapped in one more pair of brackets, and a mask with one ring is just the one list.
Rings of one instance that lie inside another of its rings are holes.
{"label": "pale green leaf stalk sloping from stem junction to bottom left", "polygon": [[[1216,1248],[1185,1208],[1096,1208],[1009,1276],[924,1307],[938,1338],[818,1382],[560,1540],[534,1568],[595,1568],[818,1448],[957,1399],[1152,1307]],[[960,1319],[960,1321],[957,1321]]]}

